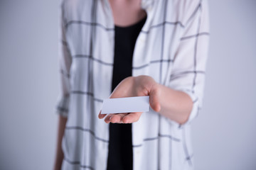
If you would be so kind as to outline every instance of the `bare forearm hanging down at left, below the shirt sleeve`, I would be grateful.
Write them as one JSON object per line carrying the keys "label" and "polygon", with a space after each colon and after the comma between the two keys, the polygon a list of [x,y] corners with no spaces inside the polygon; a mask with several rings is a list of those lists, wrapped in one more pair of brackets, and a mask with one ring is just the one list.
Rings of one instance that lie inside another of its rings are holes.
{"label": "bare forearm hanging down at left, below the shirt sleeve", "polygon": [[57,138],[57,147],[56,147],[56,155],[55,155],[55,164],[54,170],[60,170],[61,164],[63,162],[63,150],[61,149],[61,141],[63,139],[63,134],[65,130],[65,124],[67,122],[67,118],[59,115],[58,118],[58,138]]}

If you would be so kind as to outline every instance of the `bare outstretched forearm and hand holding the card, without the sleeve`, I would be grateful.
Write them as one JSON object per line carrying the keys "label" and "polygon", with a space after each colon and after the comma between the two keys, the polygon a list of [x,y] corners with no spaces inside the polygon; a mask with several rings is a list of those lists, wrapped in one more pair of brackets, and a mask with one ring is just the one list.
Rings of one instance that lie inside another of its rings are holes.
{"label": "bare outstretched forearm and hand holding the card, without the sleeve", "polygon": [[[179,124],[186,123],[193,107],[190,96],[182,91],[176,91],[169,87],[157,84],[149,76],[128,77],[114,89],[110,98],[122,98],[131,96],[149,96],[151,108]],[[106,123],[134,123],[139,120],[142,113],[109,114],[105,118]],[[99,118],[104,118],[99,114]]]}

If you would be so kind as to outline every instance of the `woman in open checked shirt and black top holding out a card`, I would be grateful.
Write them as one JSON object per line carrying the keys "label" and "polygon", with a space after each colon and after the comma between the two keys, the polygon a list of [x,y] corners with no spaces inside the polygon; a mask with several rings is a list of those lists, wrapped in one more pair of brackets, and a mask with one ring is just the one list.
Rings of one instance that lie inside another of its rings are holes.
{"label": "woman in open checked shirt and black top holding out a card", "polygon": [[[55,169],[193,169],[207,1],[64,0],[61,21]],[[149,96],[151,109],[102,115],[109,96]]]}

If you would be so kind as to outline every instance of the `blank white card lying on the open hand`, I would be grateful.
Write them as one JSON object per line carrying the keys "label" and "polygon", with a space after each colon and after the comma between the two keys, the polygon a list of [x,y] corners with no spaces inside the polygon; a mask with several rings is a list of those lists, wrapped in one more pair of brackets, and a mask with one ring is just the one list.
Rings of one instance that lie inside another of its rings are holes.
{"label": "blank white card lying on the open hand", "polygon": [[149,111],[149,96],[107,98],[103,100],[102,114]]}

